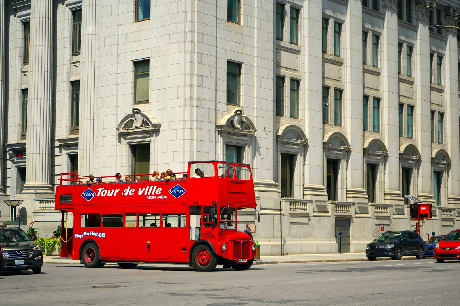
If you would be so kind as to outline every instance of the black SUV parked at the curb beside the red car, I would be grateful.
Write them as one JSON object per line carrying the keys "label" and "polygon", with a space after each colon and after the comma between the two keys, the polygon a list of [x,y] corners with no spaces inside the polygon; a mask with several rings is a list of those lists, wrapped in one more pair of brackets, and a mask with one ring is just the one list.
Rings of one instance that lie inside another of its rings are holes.
{"label": "black SUV parked at the curb beside the red car", "polygon": [[366,257],[373,261],[376,257],[391,257],[400,260],[402,256],[416,256],[423,259],[425,241],[414,231],[385,232],[366,245]]}

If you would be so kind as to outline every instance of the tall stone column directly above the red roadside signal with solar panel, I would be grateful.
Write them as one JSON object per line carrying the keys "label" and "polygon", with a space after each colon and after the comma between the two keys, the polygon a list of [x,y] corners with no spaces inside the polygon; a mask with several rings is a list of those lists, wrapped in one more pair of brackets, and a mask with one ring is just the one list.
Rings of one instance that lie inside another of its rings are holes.
{"label": "tall stone column directly above the red roadside signal with solar panel", "polygon": [[417,40],[414,54],[415,73],[415,125],[414,135],[421,154],[418,177],[418,196],[422,201],[433,200],[431,186],[431,80],[430,80],[430,31],[429,12],[436,4],[434,1],[418,0],[415,3],[415,24]]}

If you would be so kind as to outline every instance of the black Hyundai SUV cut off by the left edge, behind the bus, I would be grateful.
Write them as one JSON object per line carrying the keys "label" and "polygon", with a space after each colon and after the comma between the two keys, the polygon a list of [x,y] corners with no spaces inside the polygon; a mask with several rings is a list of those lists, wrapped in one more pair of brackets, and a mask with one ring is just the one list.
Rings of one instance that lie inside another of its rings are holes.
{"label": "black Hyundai SUV cut off by the left edge, behind the bus", "polygon": [[[32,240],[35,240],[33,237]],[[32,269],[39,274],[43,265],[40,245],[36,245],[21,228],[0,228],[0,271]]]}

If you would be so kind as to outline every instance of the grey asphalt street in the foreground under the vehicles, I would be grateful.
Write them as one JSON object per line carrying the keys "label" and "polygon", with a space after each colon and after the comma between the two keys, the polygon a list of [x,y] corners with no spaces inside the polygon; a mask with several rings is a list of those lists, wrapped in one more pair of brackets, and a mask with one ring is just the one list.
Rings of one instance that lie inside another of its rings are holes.
{"label": "grey asphalt street in the foreground under the vehicles", "polygon": [[0,272],[0,305],[459,305],[460,261],[434,259],[218,267],[46,263]]}

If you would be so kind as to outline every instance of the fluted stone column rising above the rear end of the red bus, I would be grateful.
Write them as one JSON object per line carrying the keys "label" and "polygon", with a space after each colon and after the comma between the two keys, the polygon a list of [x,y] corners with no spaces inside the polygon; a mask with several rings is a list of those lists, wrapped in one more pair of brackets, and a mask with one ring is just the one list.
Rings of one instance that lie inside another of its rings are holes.
{"label": "fluted stone column rising above the rear end of the red bus", "polygon": [[97,0],[86,0],[81,12],[80,128],[78,137],[79,172],[94,172]]}

